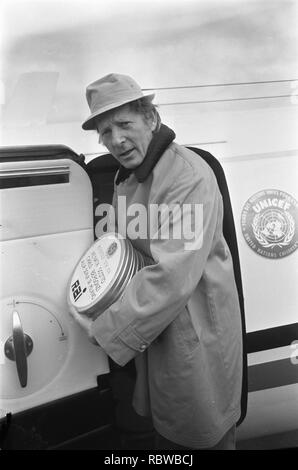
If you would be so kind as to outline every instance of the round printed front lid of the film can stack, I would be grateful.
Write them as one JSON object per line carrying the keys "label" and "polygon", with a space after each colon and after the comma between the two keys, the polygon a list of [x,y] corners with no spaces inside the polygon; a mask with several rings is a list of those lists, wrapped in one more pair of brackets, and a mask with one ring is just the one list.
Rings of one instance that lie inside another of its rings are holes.
{"label": "round printed front lid of the film can stack", "polygon": [[70,284],[70,298],[78,310],[86,310],[99,299],[117,274],[121,244],[116,237],[97,240],[77,265]]}

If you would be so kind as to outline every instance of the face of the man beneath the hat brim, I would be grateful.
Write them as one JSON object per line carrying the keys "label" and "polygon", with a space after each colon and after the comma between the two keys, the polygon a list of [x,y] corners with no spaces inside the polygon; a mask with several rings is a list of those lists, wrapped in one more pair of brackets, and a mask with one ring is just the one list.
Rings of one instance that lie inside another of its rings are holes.
{"label": "face of the man beneath the hat brim", "polygon": [[155,119],[146,120],[128,104],[96,120],[101,142],[125,168],[137,168],[145,158]]}

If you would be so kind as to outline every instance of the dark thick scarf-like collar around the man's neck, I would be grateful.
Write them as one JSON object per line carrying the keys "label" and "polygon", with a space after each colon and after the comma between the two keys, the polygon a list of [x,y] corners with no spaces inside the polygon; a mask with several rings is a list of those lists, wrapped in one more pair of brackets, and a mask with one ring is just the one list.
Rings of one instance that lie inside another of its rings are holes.
{"label": "dark thick scarf-like collar around the man's neck", "polygon": [[122,181],[126,180],[133,172],[139,183],[145,181],[175,137],[175,132],[165,124],[162,124],[159,131],[156,134],[153,134],[146,156],[141,165],[134,170],[130,170],[121,165],[116,179],[116,184],[118,185],[119,183],[122,183]]}

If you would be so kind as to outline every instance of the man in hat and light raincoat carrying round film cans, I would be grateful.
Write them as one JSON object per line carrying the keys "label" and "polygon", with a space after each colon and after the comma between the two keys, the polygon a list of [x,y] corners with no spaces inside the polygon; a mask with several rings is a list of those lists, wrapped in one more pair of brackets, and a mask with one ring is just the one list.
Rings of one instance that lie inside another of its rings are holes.
{"label": "man in hat and light raincoat carrying round film cans", "polygon": [[[87,87],[91,115],[83,129],[96,130],[120,163],[116,211],[122,196],[128,208],[142,204],[149,213],[154,205],[185,207],[192,224],[200,207],[202,217],[192,240],[181,230],[181,217],[161,217],[153,234],[148,223],[146,235],[131,242],[153,263],[95,320],[72,314],[117,364],[136,360],[133,405],[152,417],[157,448],[233,449],[242,334],[232,258],[222,233],[222,197],[208,164],[175,143],[174,132],[161,124],[153,97],[120,74]],[[127,214],[119,217],[128,223]],[[172,230],[167,237],[161,233],[166,222]]]}

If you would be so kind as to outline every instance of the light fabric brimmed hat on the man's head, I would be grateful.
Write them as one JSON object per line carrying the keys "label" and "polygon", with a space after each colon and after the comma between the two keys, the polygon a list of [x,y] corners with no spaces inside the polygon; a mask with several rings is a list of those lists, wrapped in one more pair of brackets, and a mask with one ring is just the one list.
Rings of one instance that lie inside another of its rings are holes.
{"label": "light fabric brimmed hat on the man's head", "polygon": [[100,114],[145,96],[153,99],[155,95],[143,93],[139,85],[128,75],[110,73],[90,83],[86,89],[86,98],[91,114],[83,122],[82,128],[86,131],[95,129],[94,119]]}

